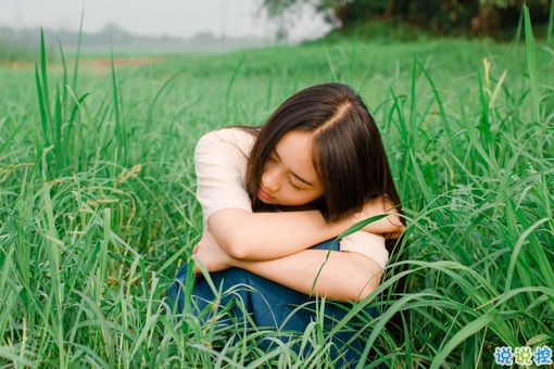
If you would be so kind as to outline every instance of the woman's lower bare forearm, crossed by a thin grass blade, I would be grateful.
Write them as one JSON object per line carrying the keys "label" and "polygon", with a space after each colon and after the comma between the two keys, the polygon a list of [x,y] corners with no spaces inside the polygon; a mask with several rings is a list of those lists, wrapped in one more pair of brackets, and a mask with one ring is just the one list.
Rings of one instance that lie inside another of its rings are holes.
{"label": "woman's lower bare forearm, crossed by a thin grass blade", "polygon": [[234,265],[292,290],[341,301],[365,298],[381,278],[380,266],[365,256],[324,250],[306,250],[266,262],[235,260]]}

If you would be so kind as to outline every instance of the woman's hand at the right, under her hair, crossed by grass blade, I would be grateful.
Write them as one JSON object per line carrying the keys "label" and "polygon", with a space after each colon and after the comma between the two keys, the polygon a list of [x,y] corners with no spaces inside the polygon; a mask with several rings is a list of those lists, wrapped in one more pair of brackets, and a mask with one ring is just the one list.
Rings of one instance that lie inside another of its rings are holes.
{"label": "woman's hand at the right, under her hair, crossed by grass blade", "polygon": [[387,198],[377,198],[367,202],[362,212],[354,214],[353,218],[354,222],[358,222],[381,214],[389,215],[382,219],[368,224],[362,228],[362,230],[375,234],[381,234],[386,239],[398,239],[406,227],[400,220],[400,216],[398,215],[398,209],[394,207],[394,204]]}

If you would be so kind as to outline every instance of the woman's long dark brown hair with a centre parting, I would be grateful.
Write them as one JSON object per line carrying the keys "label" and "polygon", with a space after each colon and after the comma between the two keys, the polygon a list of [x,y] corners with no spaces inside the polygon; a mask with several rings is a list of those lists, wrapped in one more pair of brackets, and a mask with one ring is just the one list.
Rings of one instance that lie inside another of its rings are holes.
{"label": "woman's long dark brown hair with a centre parting", "polygon": [[360,96],[349,86],[309,87],[285,101],[256,129],[250,152],[245,189],[254,212],[268,212],[257,199],[265,165],[282,137],[291,130],[313,133],[312,161],[324,193],[312,207],[326,221],[338,221],[362,211],[365,203],[386,195],[400,208],[379,129]]}

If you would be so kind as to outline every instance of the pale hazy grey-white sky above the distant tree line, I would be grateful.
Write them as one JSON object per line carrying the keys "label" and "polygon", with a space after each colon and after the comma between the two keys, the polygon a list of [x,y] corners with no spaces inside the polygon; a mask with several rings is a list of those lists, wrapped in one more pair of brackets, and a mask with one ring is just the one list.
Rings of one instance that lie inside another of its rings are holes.
{"label": "pale hazy grey-white sky above the distant tree line", "polygon": [[[85,4],[84,29],[100,30],[115,23],[137,35],[273,37],[276,26],[260,12],[262,0],[0,0],[0,26],[42,26],[78,29]],[[292,39],[316,38],[328,30],[319,16],[304,14]]]}

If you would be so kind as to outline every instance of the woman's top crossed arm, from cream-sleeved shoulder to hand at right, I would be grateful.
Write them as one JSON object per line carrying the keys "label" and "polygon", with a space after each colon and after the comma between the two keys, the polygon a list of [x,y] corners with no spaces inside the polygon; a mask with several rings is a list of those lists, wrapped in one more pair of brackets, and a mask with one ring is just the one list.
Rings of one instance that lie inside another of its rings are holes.
{"label": "woman's top crossed arm, from cream-sleeved shoulder to hand at right", "polygon": [[[242,182],[245,155],[252,141],[245,132],[224,129],[202,137],[194,152],[197,196],[202,205],[204,226],[209,226],[217,243],[230,256],[264,260],[291,255],[337,237],[361,219],[387,211],[381,201],[375,201],[357,217],[336,224],[326,224],[315,211],[253,214]],[[392,224],[400,224],[398,217],[389,218],[370,224],[365,230],[398,231],[399,227]]]}

